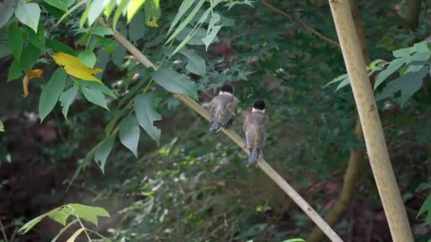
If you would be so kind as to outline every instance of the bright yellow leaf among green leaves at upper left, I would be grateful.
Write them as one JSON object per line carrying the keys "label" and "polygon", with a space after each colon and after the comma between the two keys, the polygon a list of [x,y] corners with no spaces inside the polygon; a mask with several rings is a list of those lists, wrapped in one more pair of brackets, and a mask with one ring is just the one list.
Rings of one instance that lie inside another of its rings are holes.
{"label": "bright yellow leaf among green leaves at upper left", "polygon": [[82,63],[78,57],[74,57],[70,54],[66,54],[63,52],[58,52],[52,54],[52,59],[54,59],[55,63],[60,66],[65,67],[65,71],[67,74],[70,74],[78,79],[86,80],[86,81],[98,81],[92,74],[97,74],[102,70],[99,68],[89,68],[84,63]]}

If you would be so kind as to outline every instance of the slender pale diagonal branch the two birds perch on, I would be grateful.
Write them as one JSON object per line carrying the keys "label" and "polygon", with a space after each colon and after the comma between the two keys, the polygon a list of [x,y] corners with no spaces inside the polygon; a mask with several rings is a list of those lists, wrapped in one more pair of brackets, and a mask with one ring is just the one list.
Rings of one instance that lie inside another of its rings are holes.
{"label": "slender pale diagonal branch the two birds perch on", "polygon": [[[106,25],[106,23],[104,23],[103,21],[99,21],[99,22],[102,25]],[[142,52],[140,52],[138,48],[136,48],[132,43],[130,43],[117,30],[113,30],[113,36],[114,38],[116,38],[118,42],[121,43],[121,45],[125,47],[126,50],[128,50],[131,54],[133,54],[133,56],[136,59],[138,59],[138,61],[144,67],[146,68],[152,67],[154,69],[157,69],[155,64],[153,64],[149,59],[147,59],[147,57],[145,57],[145,55],[142,54]],[[189,108],[193,109],[196,113],[201,115],[206,120],[210,119],[209,113],[204,108],[202,108],[201,105],[196,103],[193,99],[179,93],[174,93],[174,96],[179,98],[179,100],[181,100],[184,104],[189,106]],[[226,130],[226,129],[223,129],[223,132],[226,134],[226,136],[232,139],[232,141],[235,142],[237,146],[240,146],[242,150],[248,154],[247,149],[244,148],[244,140],[237,133],[233,132],[232,130]],[[335,231],[333,231],[332,228],[325,222],[325,220],[323,220],[323,218],[320,217],[320,215],[317,212],[315,212],[313,207],[311,207],[306,202],[306,200],[304,200],[303,197],[301,197],[301,195],[299,195],[298,192],[296,192],[296,190],[293,189],[291,185],[289,185],[289,183],[287,183],[286,180],[284,180],[284,178],[281,177],[281,175],[279,175],[279,173],[276,173],[276,171],[274,171],[274,169],[271,166],[269,166],[269,164],[266,161],[264,161],[264,159],[259,159],[258,166],[262,169],[262,171],[264,171],[264,173],[267,173],[269,178],[271,178],[274,181],[274,183],[279,185],[279,187],[282,190],[284,190],[284,192],[286,192],[286,194],[289,197],[291,197],[291,199],[294,202],[296,202],[296,204],[298,204],[298,206],[303,210],[303,212],[305,212],[308,215],[308,217],[310,217],[310,219],[315,222],[315,224],[326,234],[326,236],[328,236],[328,238],[330,238],[331,241],[342,241],[340,236],[338,236],[335,233]]]}

